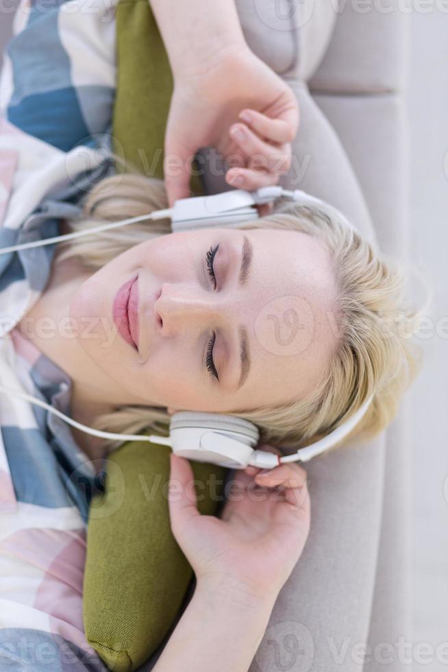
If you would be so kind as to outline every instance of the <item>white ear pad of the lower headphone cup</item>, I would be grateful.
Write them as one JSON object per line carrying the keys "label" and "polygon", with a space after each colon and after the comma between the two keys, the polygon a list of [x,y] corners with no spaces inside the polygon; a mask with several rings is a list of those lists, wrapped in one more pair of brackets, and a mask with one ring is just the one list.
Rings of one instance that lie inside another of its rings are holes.
{"label": "white ear pad of the lower headphone cup", "polygon": [[253,422],[238,416],[223,413],[206,413],[197,411],[177,411],[170,420],[170,432],[178,429],[197,429],[229,433],[234,439],[249,446],[256,446],[260,432]]}

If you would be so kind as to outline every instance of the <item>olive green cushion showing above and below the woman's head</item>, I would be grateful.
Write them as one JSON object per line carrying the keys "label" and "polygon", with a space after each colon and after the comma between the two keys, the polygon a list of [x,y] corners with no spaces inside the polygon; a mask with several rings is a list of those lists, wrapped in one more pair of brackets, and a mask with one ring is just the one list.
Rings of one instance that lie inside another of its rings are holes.
{"label": "olive green cushion showing above and below the woman's head", "polygon": [[[148,0],[121,0],[116,31],[114,149],[128,169],[162,178],[173,79]],[[198,179],[191,187],[201,193]],[[227,470],[192,467],[196,479],[217,481],[218,498],[208,488],[199,492],[201,513],[214,514]],[[169,523],[169,449],[130,442],[110,455],[107,472],[106,492],[92,502],[88,521],[84,628],[108,667],[125,672],[140,667],[169,632],[192,569]]]}

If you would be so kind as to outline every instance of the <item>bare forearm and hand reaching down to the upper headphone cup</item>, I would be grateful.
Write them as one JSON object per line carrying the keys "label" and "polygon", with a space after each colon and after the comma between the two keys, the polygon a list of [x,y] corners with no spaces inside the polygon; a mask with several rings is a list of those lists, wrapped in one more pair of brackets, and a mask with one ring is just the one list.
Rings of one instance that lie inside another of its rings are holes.
{"label": "bare forearm and hand reaching down to the upper headphone cup", "polygon": [[170,204],[189,195],[192,158],[202,147],[225,158],[232,187],[277,184],[290,167],[297,100],[247,46],[234,0],[149,1],[174,77],[165,137]]}

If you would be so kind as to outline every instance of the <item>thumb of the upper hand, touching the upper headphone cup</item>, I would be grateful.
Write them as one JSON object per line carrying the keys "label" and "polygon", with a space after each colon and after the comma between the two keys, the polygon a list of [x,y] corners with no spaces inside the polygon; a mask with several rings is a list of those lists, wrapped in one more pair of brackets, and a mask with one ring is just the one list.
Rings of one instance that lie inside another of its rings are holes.
{"label": "thumb of the upper hand, touching the upper headphone cup", "polygon": [[164,178],[169,207],[179,198],[190,196],[191,164],[197,147],[174,136],[170,126],[166,130]]}

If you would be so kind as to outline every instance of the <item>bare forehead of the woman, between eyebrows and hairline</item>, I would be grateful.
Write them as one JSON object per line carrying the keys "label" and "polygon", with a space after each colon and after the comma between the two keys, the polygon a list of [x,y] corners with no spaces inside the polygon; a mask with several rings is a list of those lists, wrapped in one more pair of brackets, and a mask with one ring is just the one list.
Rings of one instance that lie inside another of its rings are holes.
{"label": "bare forehead of the woman, between eyebrows and hairline", "polygon": [[[243,233],[253,256],[247,301],[238,317],[249,332],[251,372],[239,393],[249,394],[253,407],[266,403],[266,392],[272,404],[301,398],[321,378],[334,347],[331,257],[306,233]],[[238,402],[244,405],[243,399]]]}

